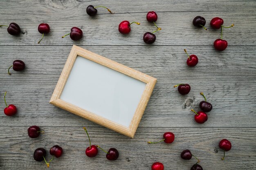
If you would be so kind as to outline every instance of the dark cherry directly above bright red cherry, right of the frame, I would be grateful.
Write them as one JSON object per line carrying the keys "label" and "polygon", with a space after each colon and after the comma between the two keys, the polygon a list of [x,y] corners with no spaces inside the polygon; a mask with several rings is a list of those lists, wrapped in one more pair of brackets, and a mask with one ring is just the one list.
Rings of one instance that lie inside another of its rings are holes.
{"label": "dark cherry directly above bright red cherry, right of the frame", "polygon": [[204,97],[204,101],[201,101],[199,104],[201,111],[199,111],[198,113],[196,113],[195,110],[193,109],[191,109],[191,111],[195,113],[195,116],[194,116],[195,121],[198,124],[203,124],[208,120],[208,116],[206,112],[211,111],[212,105],[211,103],[206,101],[206,97],[204,96],[204,93],[201,92],[200,95]]}

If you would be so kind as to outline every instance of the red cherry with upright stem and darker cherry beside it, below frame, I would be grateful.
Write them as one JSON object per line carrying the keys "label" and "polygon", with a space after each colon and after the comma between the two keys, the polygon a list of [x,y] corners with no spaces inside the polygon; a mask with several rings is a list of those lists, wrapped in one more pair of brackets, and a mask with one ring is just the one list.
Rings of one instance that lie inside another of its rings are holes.
{"label": "red cherry with upright stem and darker cherry beside it, below frame", "polygon": [[119,157],[119,152],[116,148],[110,148],[107,152],[106,150],[102,149],[99,145],[91,145],[91,140],[90,140],[88,131],[85,127],[83,127],[83,129],[85,130],[85,132],[89,138],[89,142],[90,142],[90,146],[88,148],[86,148],[86,150],[85,150],[86,156],[96,157],[98,154],[98,148],[100,148],[101,150],[106,152],[106,158],[110,161],[115,161]]}

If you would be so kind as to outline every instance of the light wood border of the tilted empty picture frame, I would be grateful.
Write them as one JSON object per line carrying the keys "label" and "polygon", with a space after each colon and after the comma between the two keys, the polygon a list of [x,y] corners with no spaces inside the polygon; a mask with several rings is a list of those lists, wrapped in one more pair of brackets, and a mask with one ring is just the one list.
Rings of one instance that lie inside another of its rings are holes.
{"label": "light wood border of the tilted empty picture frame", "polygon": [[[115,71],[118,71],[118,72],[128,75],[130,77],[138,79],[141,82],[146,83],[146,87],[144,89],[144,92],[141,96],[140,102],[137,106],[135,114],[133,115],[132,121],[128,128],[125,126],[122,126],[120,124],[117,124],[113,121],[110,121],[106,118],[103,118],[99,115],[91,113],[87,110],[79,108],[78,106],[74,106],[73,104],[67,103],[60,99],[61,93],[62,93],[63,88],[67,82],[67,78],[70,75],[70,71],[72,70],[73,64],[74,64],[77,56],[84,57],[88,60],[91,60],[93,62],[96,62],[98,64],[101,64],[103,66],[106,66]],[[148,100],[150,98],[150,95],[151,95],[154,87],[155,87],[156,82],[157,82],[157,79],[155,79],[154,77],[151,77],[149,75],[146,75],[144,73],[136,71],[132,68],[129,68],[127,66],[119,64],[117,62],[114,62],[114,61],[107,59],[105,57],[102,57],[98,54],[92,53],[88,50],[82,49],[79,46],[73,45],[73,47],[70,51],[70,55],[67,58],[66,64],[63,68],[60,78],[58,79],[58,83],[55,87],[55,90],[52,94],[52,98],[49,103],[53,104],[55,106],[58,106],[60,108],[63,108],[64,110],[67,110],[71,113],[74,113],[75,115],[81,116],[85,119],[88,119],[97,124],[100,124],[102,126],[110,128],[112,130],[115,130],[116,132],[119,132],[123,135],[133,138],[135,135],[135,132],[137,130],[137,127],[139,126],[139,122],[144,113],[146,105],[148,104]]]}

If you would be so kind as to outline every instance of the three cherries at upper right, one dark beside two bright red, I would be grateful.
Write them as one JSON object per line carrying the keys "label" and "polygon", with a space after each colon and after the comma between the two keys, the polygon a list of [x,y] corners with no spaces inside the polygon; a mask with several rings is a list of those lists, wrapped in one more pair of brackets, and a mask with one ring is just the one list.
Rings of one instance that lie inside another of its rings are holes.
{"label": "three cherries at upper right, one dark beside two bright red", "polygon": [[[206,20],[204,17],[196,16],[193,19],[193,25],[197,27],[203,27],[205,30],[207,30],[204,25],[206,23]],[[222,39],[222,28],[230,28],[233,27],[234,24],[231,24],[231,26],[223,26],[224,21],[222,18],[215,17],[211,20],[210,25],[213,29],[221,29],[220,38],[214,41],[213,46],[218,51],[223,51],[227,48],[227,41]]]}

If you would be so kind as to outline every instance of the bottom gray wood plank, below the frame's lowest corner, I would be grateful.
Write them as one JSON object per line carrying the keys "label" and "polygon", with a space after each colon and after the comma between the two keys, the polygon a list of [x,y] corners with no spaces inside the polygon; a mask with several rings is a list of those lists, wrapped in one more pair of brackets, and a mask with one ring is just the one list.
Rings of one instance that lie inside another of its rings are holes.
{"label": "bottom gray wood plank, below the frame's lowest corner", "polygon": [[[50,164],[54,170],[149,170],[155,161],[164,163],[166,170],[188,170],[196,160],[182,160],[180,152],[184,149],[201,160],[204,170],[256,169],[255,128],[138,128],[135,139],[128,139],[105,128],[88,127],[92,144],[119,150],[116,161],[108,161],[102,151],[97,157],[86,157],[89,141],[82,127],[41,127],[45,134],[36,139],[27,136],[27,128],[0,127],[1,169],[46,169],[44,162],[34,161],[34,150],[43,147],[48,151],[55,144],[62,146],[64,153]],[[174,132],[173,144],[147,144],[148,140],[162,139],[166,131]],[[223,138],[232,143],[224,161],[221,150],[214,152]],[[46,159],[50,158],[48,153]]]}

